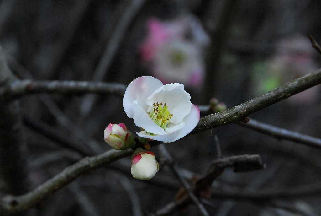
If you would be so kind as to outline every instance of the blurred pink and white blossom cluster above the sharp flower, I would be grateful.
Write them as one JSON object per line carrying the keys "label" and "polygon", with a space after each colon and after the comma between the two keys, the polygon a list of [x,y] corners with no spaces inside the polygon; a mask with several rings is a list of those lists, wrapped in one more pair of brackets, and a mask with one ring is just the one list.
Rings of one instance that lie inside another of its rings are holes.
{"label": "blurred pink and white blossom cluster above the sharp flower", "polygon": [[140,46],[142,60],[164,84],[179,82],[200,87],[204,81],[204,49],[210,40],[193,16],[162,22],[147,21],[148,34]]}

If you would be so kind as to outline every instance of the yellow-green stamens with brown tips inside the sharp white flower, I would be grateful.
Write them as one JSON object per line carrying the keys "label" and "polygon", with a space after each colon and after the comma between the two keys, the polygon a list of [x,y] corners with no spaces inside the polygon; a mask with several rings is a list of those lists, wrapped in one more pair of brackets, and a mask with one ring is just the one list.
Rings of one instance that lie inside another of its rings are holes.
{"label": "yellow-green stamens with brown tips inside the sharp white flower", "polygon": [[166,103],[154,103],[154,108],[149,113],[149,117],[162,129],[165,130],[166,126],[169,123],[169,119],[173,117],[173,114],[170,114],[168,111],[168,106]]}

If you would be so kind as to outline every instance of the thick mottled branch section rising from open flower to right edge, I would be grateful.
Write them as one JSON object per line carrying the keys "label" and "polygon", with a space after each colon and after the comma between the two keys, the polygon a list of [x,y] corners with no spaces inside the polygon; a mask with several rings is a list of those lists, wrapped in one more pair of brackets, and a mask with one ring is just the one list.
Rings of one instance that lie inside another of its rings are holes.
{"label": "thick mottled branch section rising from open flower to right edge", "polygon": [[321,69],[277,87],[264,95],[253,98],[243,104],[219,113],[207,115],[200,119],[191,133],[198,133],[233,122],[240,122],[247,116],[258,112],[265,107],[282,101],[320,83]]}

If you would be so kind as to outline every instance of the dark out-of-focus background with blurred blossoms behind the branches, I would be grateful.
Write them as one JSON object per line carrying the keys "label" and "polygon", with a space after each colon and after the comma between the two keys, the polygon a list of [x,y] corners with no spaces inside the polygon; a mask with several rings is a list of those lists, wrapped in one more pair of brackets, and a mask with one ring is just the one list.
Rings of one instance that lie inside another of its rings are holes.
{"label": "dark out-of-focus background with blurred blossoms behind the branches", "polygon": [[[21,79],[128,85],[138,76],[155,76],[164,83],[183,83],[194,104],[206,105],[215,97],[230,108],[320,68],[321,55],[307,36],[321,43],[320,12],[319,0],[2,0],[0,43],[10,69]],[[320,95],[316,86],[250,117],[321,138]],[[31,188],[85,155],[110,149],[102,136],[109,123],[139,130],[123,111],[122,98],[115,95],[27,95],[21,98],[21,113]],[[202,174],[217,158],[215,135],[223,156],[259,154],[266,169],[226,169],[213,188],[259,194],[320,183],[319,149],[239,124],[166,147],[178,166]],[[152,150],[158,158],[157,148]],[[132,215],[133,194],[145,212],[155,212],[173,201],[178,188],[167,167],[149,181],[134,179],[130,158],[124,158],[79,177],[30,212]],[[320,195],[272,201],[275,205],[213,197],[206,209],[211,215],[321,214]],[[280,203],[302,212],[281,208]],[[198,214],[190,206],[174,215]]]}

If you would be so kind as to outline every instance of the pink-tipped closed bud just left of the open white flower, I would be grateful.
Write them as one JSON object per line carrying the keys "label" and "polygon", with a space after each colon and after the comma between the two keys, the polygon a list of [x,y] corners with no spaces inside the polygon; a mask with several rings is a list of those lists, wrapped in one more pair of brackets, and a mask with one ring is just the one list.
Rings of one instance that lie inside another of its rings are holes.
{"label": "pink-tipped closed bud just left of the open white flower", "polygon": [[125,124],[109,124],[104,131],[104,140],[116,150],[125,150],[135,146],[134,135]]}

